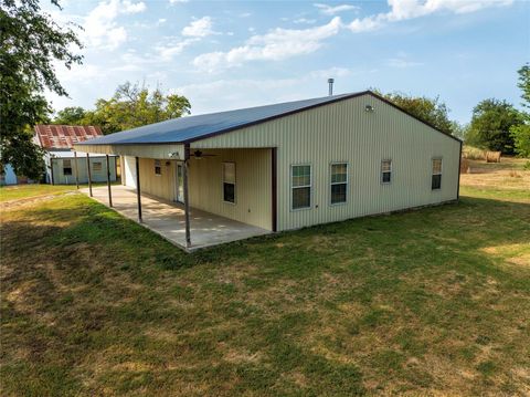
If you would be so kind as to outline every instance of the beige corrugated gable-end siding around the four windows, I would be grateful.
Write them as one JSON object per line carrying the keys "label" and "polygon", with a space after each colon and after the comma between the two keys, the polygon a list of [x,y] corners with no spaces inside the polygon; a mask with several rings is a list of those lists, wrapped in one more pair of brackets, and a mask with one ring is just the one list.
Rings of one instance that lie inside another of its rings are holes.
{"label": "beige corrugated gable-end siding around the four windows", "polygon": [[[367,112],[365,105],[374,112]],[[457,198],[459,142],[371,95],[199,140],[192,147],[277,147],[278,230]],[[431,189],[433,157],[443,158],[441,190]],[[392,159],[390,185],[381,184],[382,159]],[[333,161],[349,164],[348,201],[339,206],[330,206]],[[293,164],[312,166],[310,209],[290,210]]]}

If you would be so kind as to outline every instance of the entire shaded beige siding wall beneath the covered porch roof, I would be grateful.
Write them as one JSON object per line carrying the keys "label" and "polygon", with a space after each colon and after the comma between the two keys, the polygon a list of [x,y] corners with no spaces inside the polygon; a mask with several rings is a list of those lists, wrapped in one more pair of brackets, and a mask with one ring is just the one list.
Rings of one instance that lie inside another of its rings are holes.
{"label": "entire shaded beige siding wall beneath the covered porch roof", "polygon": [[[190,206],[244,223],[272,230],[271,149],[204,150],[190,159]],[[155,159],[140,158],[140,189],[168,201],[177,198],[177,161],[160,160],[161,175],[155,174]],[[235,163],[235,203],[223,201],[223,161]],[[125,158],[127,186],[136,188],[135,158]]]}

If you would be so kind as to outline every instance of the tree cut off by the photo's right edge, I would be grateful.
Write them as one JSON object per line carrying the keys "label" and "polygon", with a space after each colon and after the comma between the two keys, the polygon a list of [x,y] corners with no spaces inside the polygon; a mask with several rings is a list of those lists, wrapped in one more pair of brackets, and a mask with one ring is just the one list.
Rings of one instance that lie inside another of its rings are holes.
{"label": "tree cut off by the photo's right edge", "polygon": [[[519,71],[519,83],[517,86],[521,88],[521,105],[530,109],[530,65],[527,63]],[[530,157],[530,113],[521,112],[522,124],[515,125],[510,128],[510,135],[513,138],[516,153],[523,157]],[[530,164],[527,163],[527,164]]]}

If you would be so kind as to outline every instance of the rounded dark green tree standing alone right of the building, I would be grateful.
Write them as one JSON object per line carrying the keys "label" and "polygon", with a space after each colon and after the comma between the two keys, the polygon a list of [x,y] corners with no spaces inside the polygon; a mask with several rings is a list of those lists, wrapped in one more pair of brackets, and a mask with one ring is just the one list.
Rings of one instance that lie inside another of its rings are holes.
{"label": "rounded dark green tree standing alone right of the building", "polygon": [[521,114],[512,104],[495,98],[480,102],[473,109],[468,143],[478,147],[513,154],[510,128],[522,124]]}

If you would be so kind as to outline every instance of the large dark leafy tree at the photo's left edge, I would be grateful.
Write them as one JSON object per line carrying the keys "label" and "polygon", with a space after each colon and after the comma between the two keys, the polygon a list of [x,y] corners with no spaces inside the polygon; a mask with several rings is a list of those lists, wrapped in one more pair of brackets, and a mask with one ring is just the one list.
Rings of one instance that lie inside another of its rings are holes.
{"label": "large dark leafy tree at the photo's left edge", "polygon": [[[61,9],[57,0],[52,3]],[[1,0],[0,27],[0,161],[38,179],[42,152],[32,143],[31,130],[51,112],[43,92],[66,95],[53,63],[68,69],[81,63],[82,56],[71,51],[81,43],[72,28],[42,12],[38,0]]]}

